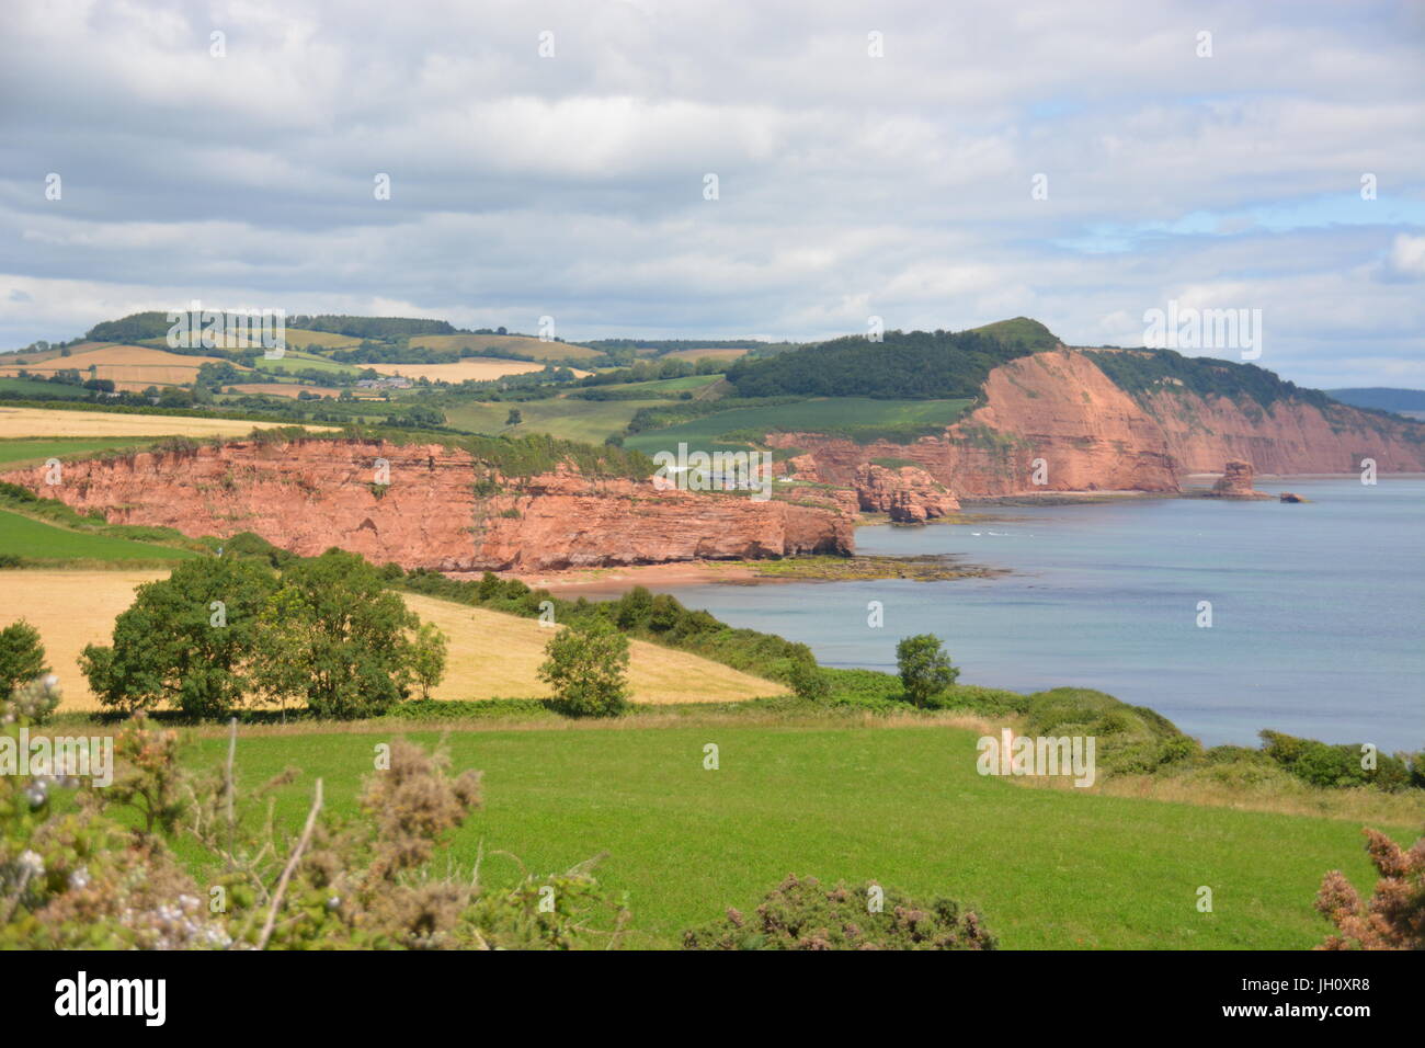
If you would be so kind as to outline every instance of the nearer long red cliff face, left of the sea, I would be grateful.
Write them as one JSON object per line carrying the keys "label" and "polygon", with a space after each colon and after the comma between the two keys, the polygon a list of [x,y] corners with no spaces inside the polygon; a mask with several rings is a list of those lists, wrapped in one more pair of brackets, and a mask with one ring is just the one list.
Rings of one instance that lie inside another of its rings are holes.
{"label": "nearer long red cliff face, left of the sea", "polygon": [[[389,476],[378,472],[378,459],[386,459]],[[44,473],[38,466],[4,479],[80,512],[97,509],[110,523],[191,536],[254,532],[302,556],[341,546],[406,569],[848,553],[856,510],[851,492],[757,502],[591,479],[566,468],[504,478],[469,452],[437,443],[234,442],[67,462],[53,486]]]}

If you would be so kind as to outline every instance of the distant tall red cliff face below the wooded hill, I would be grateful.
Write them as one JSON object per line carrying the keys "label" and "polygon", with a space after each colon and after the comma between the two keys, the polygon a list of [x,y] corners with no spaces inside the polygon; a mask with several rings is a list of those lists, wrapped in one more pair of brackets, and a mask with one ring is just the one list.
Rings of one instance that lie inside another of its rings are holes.
{"label": "distant tall red cliff face below the wooded hill", "polygon": [[[805,452],[798,475],[854,485],[872,459],[908,459],[958,496],[1181,490],[1187,473],[1230,459],[1263,473],[1342,473],[1374,458],[1384,472],[1425,471],[1425,426],[1345,405],[1273,408],[1119,388],[1084,354],[1057,349],[990,372],[985,404],[943,433],[908,445],[858,445],[819,433],[774,433]],[[809,459],[809,462],[808,462]]]}

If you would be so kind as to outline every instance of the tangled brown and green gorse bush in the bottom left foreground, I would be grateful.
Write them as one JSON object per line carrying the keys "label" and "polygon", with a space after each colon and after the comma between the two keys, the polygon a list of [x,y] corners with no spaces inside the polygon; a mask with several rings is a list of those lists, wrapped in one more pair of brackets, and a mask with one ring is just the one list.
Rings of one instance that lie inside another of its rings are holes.
{"label": "tangled brown and green gorse bush in the bottom left foreground", "polygon": [[[27,723],[13,714],[0,730]],[[0,777],[0,948],[569,950],[617,944],[627,921],[589,864],[509,890],[483,887],[479,865],[432,871],[482,803],[479,773],[452,776],[440,753],[393,743],[355,817],[333,814],[318,780],[295,836],[266,797],[296,773],[242,790],[238,763],[195,774],[177,753],[140,714],[107,788]],[[178,847],[204,856],[208,883]]]}

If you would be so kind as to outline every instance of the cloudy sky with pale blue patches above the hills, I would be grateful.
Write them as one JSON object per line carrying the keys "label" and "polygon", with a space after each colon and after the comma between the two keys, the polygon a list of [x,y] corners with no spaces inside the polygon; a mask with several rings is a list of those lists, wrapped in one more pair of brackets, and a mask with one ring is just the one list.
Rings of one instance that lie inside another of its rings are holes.
{"label": "cloudy sky with pale blue patches above the hills", "polygon": [[0,348],[194,299],[569,341],[1025,315],[1070,345],[1177,304],[1260,318],[1298,384],[1425,388],[1425,3],[3,17]]}

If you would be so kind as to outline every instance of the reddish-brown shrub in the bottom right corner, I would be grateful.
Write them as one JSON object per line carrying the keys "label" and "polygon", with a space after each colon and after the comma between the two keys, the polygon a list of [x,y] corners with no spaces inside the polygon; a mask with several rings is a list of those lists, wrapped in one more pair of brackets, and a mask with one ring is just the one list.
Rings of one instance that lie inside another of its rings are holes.
{"label": "reddish-brown shrub in the bottom right corner", "polygon": [[1409,851],[1378,830],[1362,830],[1381,880],[1364,901],[1340,870],[1321,881],[1317,913],[1337,927],[1318,950],[1425,950],[1425,837]]}

